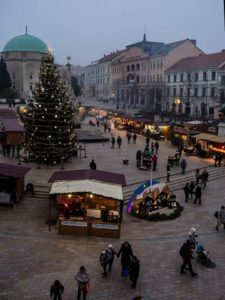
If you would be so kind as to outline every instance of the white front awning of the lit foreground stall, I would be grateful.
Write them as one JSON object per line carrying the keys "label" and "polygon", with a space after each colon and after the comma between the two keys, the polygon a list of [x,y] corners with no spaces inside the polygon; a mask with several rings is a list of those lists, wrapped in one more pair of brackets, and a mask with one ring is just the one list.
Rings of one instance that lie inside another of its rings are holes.
{"label": "white front awning of the lit foreground stall", "polygon": [[91,193],[123,201],[122,185],[95,180],[57,181],[52,184],[50,194]]}

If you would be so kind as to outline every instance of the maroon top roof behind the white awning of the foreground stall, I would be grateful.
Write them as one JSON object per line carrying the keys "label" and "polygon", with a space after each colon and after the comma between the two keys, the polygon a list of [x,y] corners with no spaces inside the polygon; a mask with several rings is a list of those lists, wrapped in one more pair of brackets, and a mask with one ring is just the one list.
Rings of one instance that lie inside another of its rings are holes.
{"label": "maroon top roof behind the white awning of the foreground stall", "polygon": [[54,172],[49,182],[54,181],[72,181],[72,180],[95,180],[100,182],[108,182],[112,184],[126,185],[125,176],[123,174],[99,171],[99,170],[69,170]]}

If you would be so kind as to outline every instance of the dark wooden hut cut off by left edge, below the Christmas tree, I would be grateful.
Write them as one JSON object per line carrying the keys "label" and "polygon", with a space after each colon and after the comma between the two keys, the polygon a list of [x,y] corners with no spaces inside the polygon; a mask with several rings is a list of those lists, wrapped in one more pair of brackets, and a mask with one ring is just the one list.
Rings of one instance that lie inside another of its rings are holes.
{"label": "dark wooden hut cut off by left edge, below the Christmas tree", "polygon": [[24,196],[24,177],[28,167],[0,163],[0,203],[15,204]]}

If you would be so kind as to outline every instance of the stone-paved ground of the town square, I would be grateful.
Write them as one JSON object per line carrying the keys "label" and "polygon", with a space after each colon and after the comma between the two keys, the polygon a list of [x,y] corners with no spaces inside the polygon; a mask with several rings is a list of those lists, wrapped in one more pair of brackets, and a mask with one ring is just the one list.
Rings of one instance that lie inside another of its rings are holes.
{"label": "stone-paved ground of the town square", "polygon": [[[124,132],[113,132],[116,135]],[[144,138],[138,136],[138,144],[111,149],[109,144],[88,144],[87,159],[75,158],[65,164],[65,169],[88,168],[93,158],[101,170],[124,173],[127,182],[144,180],[148,172],[135,166],[135,153],[144,146]],[[165,175],[165,162],[175,148],[168,142],[160,143],[159,163],[154,177]],[[122,157],[129,158],[129,165],[122,164]],[[11,162],[10,158],[0,159]],[[188,168],[211,164],[211,160],[187,157]],[[17,163],[17,161],[12,161]],[[58,167],[38,170],[33,168],[27,180],[45,184]],[[172,172],[180,171],[178,167]],[[65,286],[63,299],[76,299],[77,286],[74,274],[85,265],[91,276],[90,300],[130,300],[140,293],[143,299],[206,299],[222,300],[225,295],[225,232],[215,230],[215,210],[225,204],[224,178],[210,181],[203,192],[202,205],[184,203],[183,191],[176,193],[184,206],[180,218],[165,222],[147,222],[125,215],[120,240],[98,237],[62,236],[56,227],[48,231],[45,224],[48,203],[35,198],[26,198],[14,209],[0,207],[0,300],[49,299],[50,285],[59,279]],[[210,251],[215,269],[207,269],[193,260],[197,278],[190,274],[180,275],[179,248],[187,238],[190,227],[198,230],[198,239]],[[116,258],[113,270],[102,278],[99,253],[109,243],[118,250],[125,240],[129,241],[141,262],[141,272],[136,290],[130,287],[129,279],[120,276],[120,261]]]}

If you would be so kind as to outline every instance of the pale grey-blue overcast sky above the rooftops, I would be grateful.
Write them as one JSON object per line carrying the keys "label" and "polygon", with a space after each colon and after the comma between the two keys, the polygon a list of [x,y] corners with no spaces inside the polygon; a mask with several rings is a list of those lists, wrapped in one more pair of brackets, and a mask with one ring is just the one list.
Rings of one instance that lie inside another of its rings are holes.
{"label": "pale grey-blue overcast sky above the rooftops", "polygon": [[225,48],[223,0],[1,0],[0,51],[25,33],[50,43],[57,63],[87,65],[142,40],[197,40],[206,53]]}

